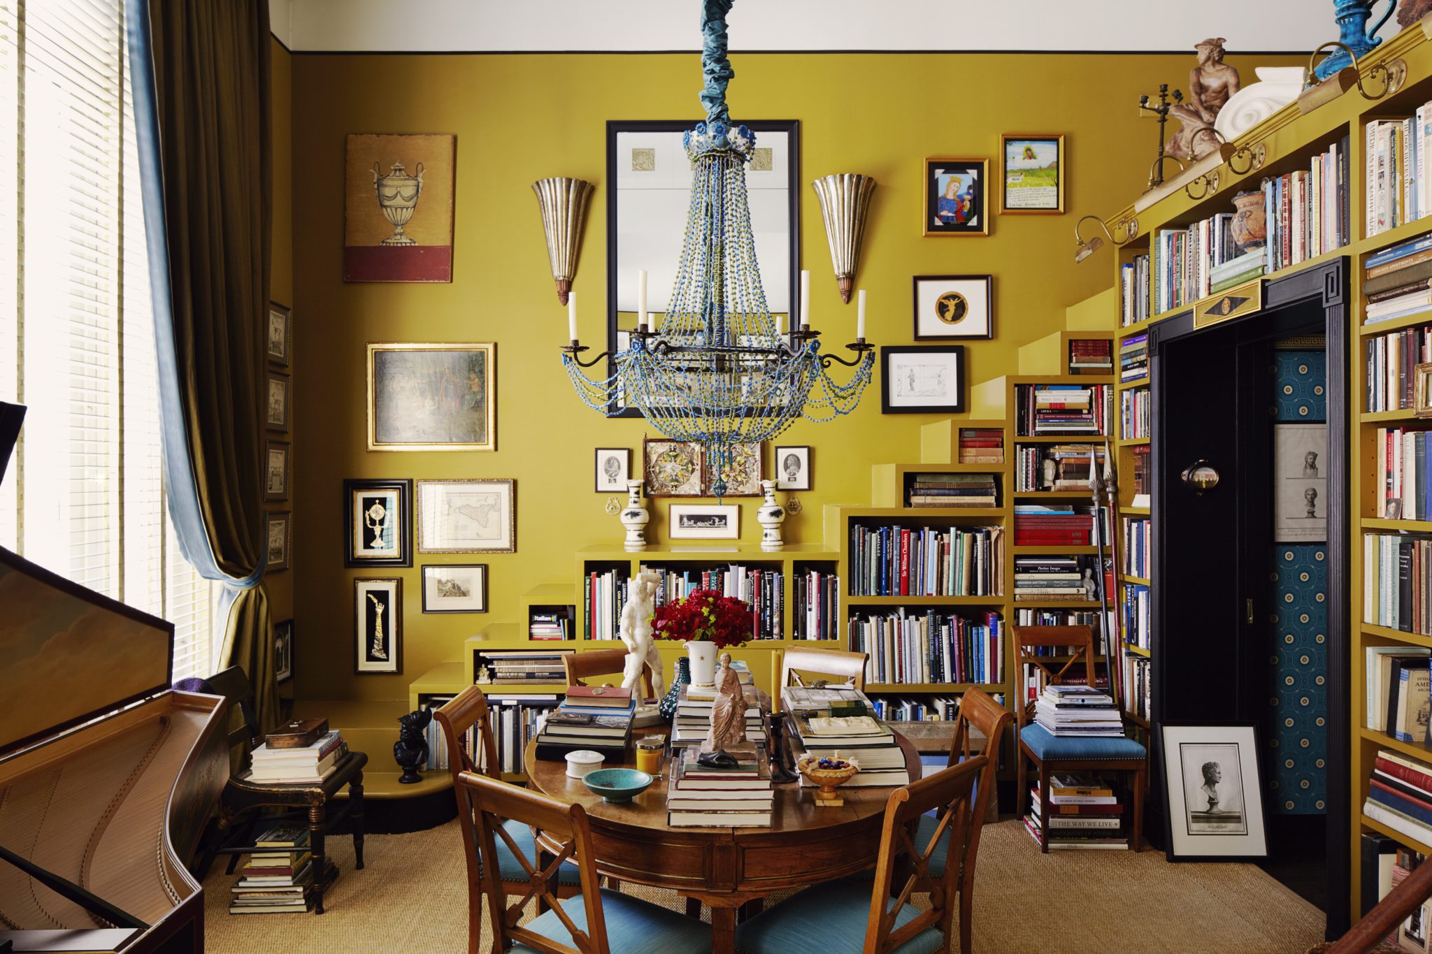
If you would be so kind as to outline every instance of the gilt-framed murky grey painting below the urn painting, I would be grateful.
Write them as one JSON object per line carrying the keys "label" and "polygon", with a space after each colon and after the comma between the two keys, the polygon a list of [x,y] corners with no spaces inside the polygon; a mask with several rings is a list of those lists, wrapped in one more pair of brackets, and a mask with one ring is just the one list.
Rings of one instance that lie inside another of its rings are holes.
{"label": "gilt-framed murky grey painting below the urn painting", "polygon": [[369,451],[495,451],[497,345],[368,345]]}

